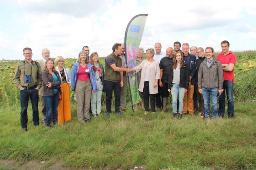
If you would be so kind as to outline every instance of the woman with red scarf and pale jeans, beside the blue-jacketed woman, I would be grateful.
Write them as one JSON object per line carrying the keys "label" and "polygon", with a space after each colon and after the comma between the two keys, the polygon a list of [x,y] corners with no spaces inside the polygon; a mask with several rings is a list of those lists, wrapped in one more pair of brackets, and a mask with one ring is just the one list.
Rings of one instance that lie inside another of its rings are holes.
{"label": "woman with red scarf and pale jeans, beside the blue-jacketed woman", "polygon": [[[93,52],[90,57],[90,63],[93,65],[96,87],[97,91],[91,93],[91,109],[92,115],[96,118],[100,116],[101,113],[101,96],[104,88],[104,68],[100,60],[98,60],[98,53]],[[97,113],[96,113],[96,103],[97,103]]]}

